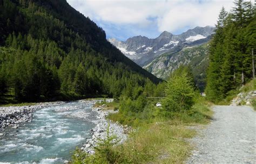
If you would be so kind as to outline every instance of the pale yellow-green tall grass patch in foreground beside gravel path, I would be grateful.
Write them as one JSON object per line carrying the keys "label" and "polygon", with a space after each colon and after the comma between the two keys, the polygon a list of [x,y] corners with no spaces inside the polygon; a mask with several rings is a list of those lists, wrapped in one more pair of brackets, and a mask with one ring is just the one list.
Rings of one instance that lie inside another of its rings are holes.
{"label": "pale yellow-green tall grass patch in foreground beside gravel path", "polygon": [[124,152],[131,163],[182,163],[192,149],[184,139],[195,134],[172,122],[152,123],[142,127],[117,149]]}

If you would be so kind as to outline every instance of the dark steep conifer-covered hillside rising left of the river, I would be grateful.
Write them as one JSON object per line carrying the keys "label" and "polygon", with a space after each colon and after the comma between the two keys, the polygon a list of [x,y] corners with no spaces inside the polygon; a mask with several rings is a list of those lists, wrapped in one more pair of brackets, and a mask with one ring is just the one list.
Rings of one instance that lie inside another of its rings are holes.
{"label": "dark steep conifer-covered hillside rising left of the river", "polygon": [[66,1],[0,0],[0,11],[3,102],[6,95],[18,101],[118,97],[127,86],[160,81]]}

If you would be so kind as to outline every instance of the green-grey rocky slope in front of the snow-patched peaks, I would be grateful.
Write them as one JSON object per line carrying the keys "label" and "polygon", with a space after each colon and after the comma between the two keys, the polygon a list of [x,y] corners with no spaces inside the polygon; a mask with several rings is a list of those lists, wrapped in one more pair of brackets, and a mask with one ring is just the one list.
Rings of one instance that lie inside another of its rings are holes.
{"label": "green-grey rocky slope in front of the snow-patched peaks", "polygon": [[192,68],[196,85],[203,90],[208,66],[208,47],[209,45],[206,43],[200,46],[185,47],[179,52],[165,53],[144,68],[157,77],[167,79],[170,73],[180,65],[188,65]]}

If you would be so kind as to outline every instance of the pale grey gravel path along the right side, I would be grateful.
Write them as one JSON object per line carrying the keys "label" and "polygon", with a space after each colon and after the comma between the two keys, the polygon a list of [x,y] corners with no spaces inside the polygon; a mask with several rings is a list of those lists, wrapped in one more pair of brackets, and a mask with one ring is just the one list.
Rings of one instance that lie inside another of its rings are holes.
{"label": "pale grey gravel path along the right side", "polygon": [[249,106],[214,106],[210,125],[191,140],[187,163],[256,163],[256,112]]}

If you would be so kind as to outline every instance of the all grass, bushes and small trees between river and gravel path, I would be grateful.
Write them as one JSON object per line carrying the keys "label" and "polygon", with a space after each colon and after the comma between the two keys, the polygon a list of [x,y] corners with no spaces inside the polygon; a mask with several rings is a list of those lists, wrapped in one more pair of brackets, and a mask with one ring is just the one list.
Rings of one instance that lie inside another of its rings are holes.
{"label": "all grass, bushes and small trees between river and gravel path", "polygon": [[[187,125],[205,124],[212,115],[188,70],[180,67],[167,83],[158,84],[151,92],[145,88],[124,92],[119,112],[109,119],[137,131],[121,145],[110,144],[116,141],[112,136],[101,140],[94,155],[77,149],[71,163],[182,163],[192,148],[185,139],[196,134]],[[157,102],[163,107],[157,107]]]}

